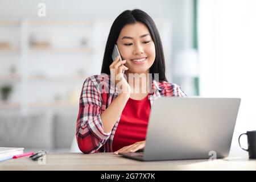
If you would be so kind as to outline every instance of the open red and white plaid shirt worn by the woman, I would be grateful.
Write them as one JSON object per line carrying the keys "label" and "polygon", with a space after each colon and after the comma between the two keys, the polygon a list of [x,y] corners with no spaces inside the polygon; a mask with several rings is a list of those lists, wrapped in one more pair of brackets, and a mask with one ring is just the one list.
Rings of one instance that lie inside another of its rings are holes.
{"label": "open red and white plaid shirt worn by the woman", "polygon": [[[158,97],[187,97],[180,86],[166,81],[152,80],[151,92],[148,96],[150,105]],[[101,113],[118,96],[118,91],[106,74],[86,78],[82,86],[79,115],[77,117],[77,144],[85,154],[94,152],[113,152],[112,143],[121,115],[110,133],[105,133]]]}

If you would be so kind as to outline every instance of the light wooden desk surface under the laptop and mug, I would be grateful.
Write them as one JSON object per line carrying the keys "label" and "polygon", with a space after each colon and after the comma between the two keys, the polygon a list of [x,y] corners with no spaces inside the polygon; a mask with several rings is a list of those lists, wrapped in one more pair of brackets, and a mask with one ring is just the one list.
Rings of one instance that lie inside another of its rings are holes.
{"label": "light wooden desk surface under the laptop and mug", "polygon": [[197,159],[155,162],[140,162],[113,153],[52,153],[46,155],[45,164],[26,156],[1,162],[1,170],[256,170],[256,160],[248,159],[246,153],[212,161]]}

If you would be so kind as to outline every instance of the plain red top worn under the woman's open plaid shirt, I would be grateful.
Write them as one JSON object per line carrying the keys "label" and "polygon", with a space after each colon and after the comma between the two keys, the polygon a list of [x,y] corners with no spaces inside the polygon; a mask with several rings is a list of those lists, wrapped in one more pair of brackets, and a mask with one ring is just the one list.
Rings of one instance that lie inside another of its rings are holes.
{"label": "plain red top worn under the woman's open plaid shirt", "polygon": [[143,98],[143,100],[133,100],[129,98],[126,102],[117,130],[114,134],[112,144],[113,151],[146,139],[151,107],[148,95]]}

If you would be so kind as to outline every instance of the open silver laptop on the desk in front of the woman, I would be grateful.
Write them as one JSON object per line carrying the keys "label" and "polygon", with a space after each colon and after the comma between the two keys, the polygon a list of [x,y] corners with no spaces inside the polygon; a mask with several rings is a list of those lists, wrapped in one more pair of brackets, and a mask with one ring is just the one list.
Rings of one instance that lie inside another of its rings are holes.
{"label": "open silver laptop on the desk in front of the woman", "polygon": [[209,159],[229,155],[241,98],[162,97],[154,101],[137,160]]}

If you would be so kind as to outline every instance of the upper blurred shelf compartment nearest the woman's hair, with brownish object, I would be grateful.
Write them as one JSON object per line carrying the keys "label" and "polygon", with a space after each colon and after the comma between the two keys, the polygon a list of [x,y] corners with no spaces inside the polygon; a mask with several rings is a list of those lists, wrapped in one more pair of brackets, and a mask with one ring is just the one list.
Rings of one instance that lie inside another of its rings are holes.
{"label": "upper blurred shelf compartment nearest the woman's hair, with brownish object", "polygon": [[91,55],[94,51],[93,20],[32,19],[27,26],[28,53]]}

